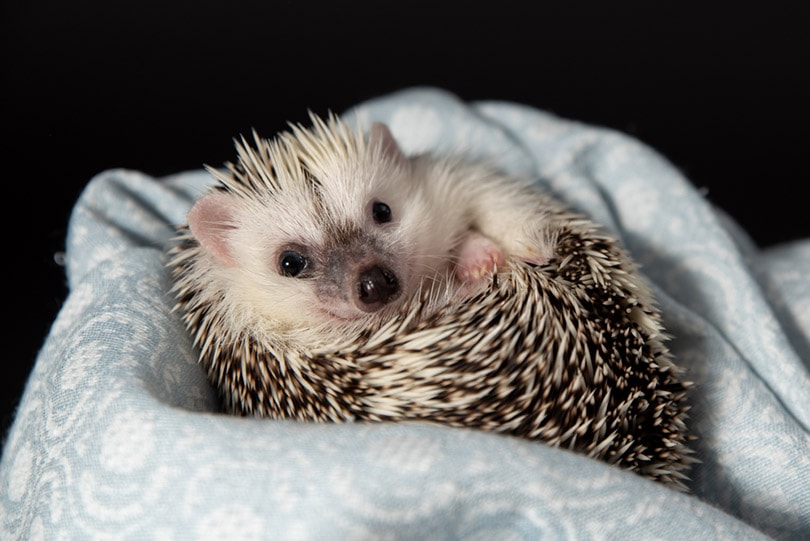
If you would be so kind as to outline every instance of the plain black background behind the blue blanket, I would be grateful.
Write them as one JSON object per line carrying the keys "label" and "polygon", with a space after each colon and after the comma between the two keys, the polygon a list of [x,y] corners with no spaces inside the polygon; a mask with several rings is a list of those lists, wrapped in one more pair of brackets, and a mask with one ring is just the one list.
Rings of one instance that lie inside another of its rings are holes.
{"label": "plain black background behind the blue blanket", "polygon": [[414,85],[526,103],[656,148],[761,246],[810,236],[808,2],[467,4],[4,1],[3,431],[84,184],[219,165],[308,108]]}

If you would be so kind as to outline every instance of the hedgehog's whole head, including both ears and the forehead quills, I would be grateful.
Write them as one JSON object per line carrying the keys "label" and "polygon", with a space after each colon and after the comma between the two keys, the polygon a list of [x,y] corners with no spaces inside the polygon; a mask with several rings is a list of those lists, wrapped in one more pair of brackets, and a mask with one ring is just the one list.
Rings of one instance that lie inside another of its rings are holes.
{"label": "hedgehog's whole head, including both ears and the forehead quills", "polygon": [[430,206],[387,128],[375,125],[367,146],[342,135],[300,132],[268,147],[270,184],[251,170],[264,149],[243,147],[232,173],[258,188],[220,177],[228,189],[189,213],[215,289],[266,330],[378,317],[448,274],[455,234],[437,234],[432,217],[452,212]]}

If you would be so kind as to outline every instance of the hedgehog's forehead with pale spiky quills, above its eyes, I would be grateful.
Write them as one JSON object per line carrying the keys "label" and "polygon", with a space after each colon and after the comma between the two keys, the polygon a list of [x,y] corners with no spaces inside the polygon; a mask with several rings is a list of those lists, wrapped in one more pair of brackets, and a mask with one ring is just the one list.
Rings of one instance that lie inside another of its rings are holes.
{"label": "hedgehog's forehead with pale spiky quills, above its eyes", "polygon": [[334,116],[312,118],[310,129],[291,126],[272,140],[254,133],[252,147],[242,140],[239,161],[221,180],[260,204],[255,218],[269,237],[323,245],[356,235],[373,200],[402,199],[409,183],[373,155],[359,129]]}

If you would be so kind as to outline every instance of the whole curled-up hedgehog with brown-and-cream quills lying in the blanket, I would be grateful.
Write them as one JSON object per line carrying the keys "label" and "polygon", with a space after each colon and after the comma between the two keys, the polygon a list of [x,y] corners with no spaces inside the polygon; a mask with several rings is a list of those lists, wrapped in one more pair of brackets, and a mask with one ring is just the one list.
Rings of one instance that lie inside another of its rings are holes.
{"label": "whole curled-up hedgehog with brown-and-cream quills lying in the blanket", "polygon": [[209,168],[170,251],[227,410],[475,427],[686,490],[689,385],[616,240],[528,181],[311,118]]}

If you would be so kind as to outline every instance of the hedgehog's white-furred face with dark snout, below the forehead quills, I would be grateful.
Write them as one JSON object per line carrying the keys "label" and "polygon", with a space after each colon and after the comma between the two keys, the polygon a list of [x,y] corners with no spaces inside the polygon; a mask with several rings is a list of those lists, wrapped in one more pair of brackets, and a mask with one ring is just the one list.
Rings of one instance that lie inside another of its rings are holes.
{"label": "hedgehog's white-furred face with dark snout, below the forehead quills", "polygon": [[[231,304],[270,326],[302,327],[382,310],[409,286],[390,207],[372,201],[357,217],[312,199],[247,202],[212,193],[189,214],[192,233]],[[219,224],[219,225],[215,225]],[[223,224],[227,224],[224,225]]]}

